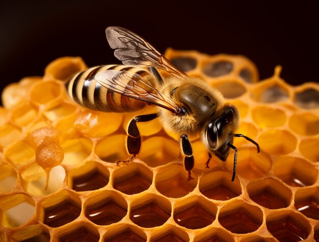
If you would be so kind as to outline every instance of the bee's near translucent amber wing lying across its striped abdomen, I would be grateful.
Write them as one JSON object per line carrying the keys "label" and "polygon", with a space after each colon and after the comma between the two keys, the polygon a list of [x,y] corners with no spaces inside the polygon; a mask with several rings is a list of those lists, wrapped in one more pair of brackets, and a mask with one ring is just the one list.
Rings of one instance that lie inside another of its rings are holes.
{"label": "bee's near translucent amber wing lying across its striped abdomen", "polygon": [[173,100],[137,73],[105,70],[98,72],[95,79],[101,86],[119,94],[164,107],[175,114],[180,112],[180,107]]}

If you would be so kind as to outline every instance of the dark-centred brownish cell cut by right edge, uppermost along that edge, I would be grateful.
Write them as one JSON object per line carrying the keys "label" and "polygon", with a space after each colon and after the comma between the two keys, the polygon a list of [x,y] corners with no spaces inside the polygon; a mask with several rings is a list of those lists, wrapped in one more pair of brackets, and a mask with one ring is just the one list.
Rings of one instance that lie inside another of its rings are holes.
{"label": "dark-centred brownish cell cut by right edge, uppermost along that edge", "polygon": [[297,92],[294,103],[303,109],[317,109],[319,107],[319,92],[313,88]]}

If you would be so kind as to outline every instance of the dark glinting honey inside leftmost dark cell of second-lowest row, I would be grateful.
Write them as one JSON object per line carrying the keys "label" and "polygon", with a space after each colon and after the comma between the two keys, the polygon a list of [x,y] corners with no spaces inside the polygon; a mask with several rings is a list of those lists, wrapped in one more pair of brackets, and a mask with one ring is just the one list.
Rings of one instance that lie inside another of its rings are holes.
{"label": "dark glinting honey inside leftmost dark cell of second-lowest row", "polygon": [[44,224],[60,227],[75,220],[81,213],[81,207],[71,200],[65,200],[44,210]]}

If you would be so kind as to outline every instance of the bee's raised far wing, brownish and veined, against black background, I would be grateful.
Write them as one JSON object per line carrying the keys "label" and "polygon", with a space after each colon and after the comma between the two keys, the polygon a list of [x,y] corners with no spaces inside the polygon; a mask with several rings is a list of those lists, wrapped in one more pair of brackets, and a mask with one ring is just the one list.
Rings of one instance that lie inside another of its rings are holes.
{"label": "bee's raised far wing, brownish and veined, against black background", "polygon": [[108,27],[105,32],[111,48],[115,49],[114,56],[124,65],[156,67],[179,78],[187,76],[137,34],[116,26]]}

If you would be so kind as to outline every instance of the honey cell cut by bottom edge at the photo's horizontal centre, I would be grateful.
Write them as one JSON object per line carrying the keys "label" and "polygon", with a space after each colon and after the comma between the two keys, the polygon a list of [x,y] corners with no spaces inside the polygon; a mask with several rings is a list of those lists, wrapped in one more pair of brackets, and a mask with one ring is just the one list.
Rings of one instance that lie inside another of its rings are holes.
{"label": "honey cell cut by bottom edge at the photo's horizontal centre", "polygon": [[154,231],[151,234],[150,240],[151,242],[186,242],[190,241],[190,237],[187,232],[182,229],[179,229],[175,226],[163,226],[163,229]]}

